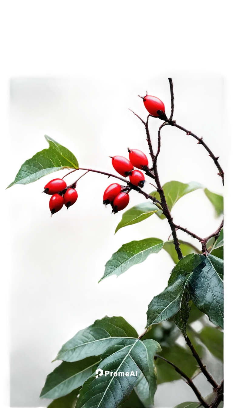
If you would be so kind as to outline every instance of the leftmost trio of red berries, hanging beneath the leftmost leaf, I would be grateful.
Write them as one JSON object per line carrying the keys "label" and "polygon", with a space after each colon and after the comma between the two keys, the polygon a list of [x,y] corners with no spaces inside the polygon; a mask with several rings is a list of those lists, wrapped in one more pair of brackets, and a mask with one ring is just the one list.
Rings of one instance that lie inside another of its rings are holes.
{"label": "leftmost trio of red berries, hanging beneath the leftmost leaf", "polygon": [[49,200],[49,209],[51,214],[60,211],[65,205],[67,209],[73,205],[78,198],[78,193],[75,190],[75,185],[67,188],[67,183],[61,178],[50,180],[44,187],[44,193],[51,195]]}

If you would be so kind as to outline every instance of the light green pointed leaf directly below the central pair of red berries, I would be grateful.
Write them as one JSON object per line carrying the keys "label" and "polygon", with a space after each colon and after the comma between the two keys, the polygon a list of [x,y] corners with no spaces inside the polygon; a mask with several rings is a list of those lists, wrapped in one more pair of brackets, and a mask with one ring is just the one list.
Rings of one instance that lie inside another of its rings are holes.
{"label": "light green pointed leaf directly below the central pair of red berries", "polygon": [[131,226],[146,220],[146,218],[151,217],[151,215],[155,214],[157,211],[158,207],[154,204],[140,204],[137,207],[132,207],[129,210],[124,211],[115,231],[124,226]]}

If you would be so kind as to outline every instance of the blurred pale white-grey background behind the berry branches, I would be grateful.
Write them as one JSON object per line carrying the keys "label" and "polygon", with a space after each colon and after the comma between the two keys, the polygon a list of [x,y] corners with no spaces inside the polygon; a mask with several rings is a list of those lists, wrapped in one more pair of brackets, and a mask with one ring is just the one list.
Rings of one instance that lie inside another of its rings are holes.
{"label": "blurred pale white-grey background behind the berry branches", "polygon": [[[174,119],[203,136],[224,168],[226,82],[218,72],[14,75],[9,78],[7,108],[14,160],[6,182],[12,181],[19,163],[45,147],[44,133],[65,141],[81,166],[107,171],[112,171],[109,155],[121,154],[127,146],[146,149],[143,126],[128,108],[146,118],[138,94],[148,91],[166,102],[169,114],[168,76],[174,82]],[[155,149],[159,123],[151,118]],[[171,126],[165,126],[161,134],[158,170],[162,184],[199,182],[222,193],[213,161],[194,138]],[[150,182],[145,186],[148,193],[154,189]],[[101,202],[107,184],[107,178],[89,173],[80,180],[80,204],[52,218],[39,194],[41,183],[7,191],[11,211],[7,293],[11,406],[43,406],[38,397],[52,368],[50,362],[73,331],[106,314],[123,315],[141,331],[149,302],[166,286],[173,264],[165,251],[131,268],[121,279],[97,284],[107,259],[126,240],[168,239],[171,232],[155,216],[114,235],[119,215],[113,216]],[[131,205],[143,200],[132,193]],[[173,217],[200,236],[210,234],[219,224],[202,190],[182,198],[173,208]],[[179,237],[191,239],[182,233]]]}

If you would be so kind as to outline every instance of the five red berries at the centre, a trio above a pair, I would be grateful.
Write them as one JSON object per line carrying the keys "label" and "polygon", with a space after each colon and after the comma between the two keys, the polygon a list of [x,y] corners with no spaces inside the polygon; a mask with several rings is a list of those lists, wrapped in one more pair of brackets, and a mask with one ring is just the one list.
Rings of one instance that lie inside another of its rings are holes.
{"label": "five red berries at the centre, a trio above a pair", "polygon": [[[120,175],[123,177],[129,176],[129,182],[134,186],[143,187],[145,182],[145,176],[140,170],[146,170],[148,168],[148,158],[141,150],[133,150],[128,148],[129,160],[124,156],[113,156],[112,165]],[[127,191],[126,191],[127,190]],[[111,204],[113,213],[124,210],[129,204],[129,191],[130,187],[123,188],[119,183],[110,184],[104,191],[103,204]]]}

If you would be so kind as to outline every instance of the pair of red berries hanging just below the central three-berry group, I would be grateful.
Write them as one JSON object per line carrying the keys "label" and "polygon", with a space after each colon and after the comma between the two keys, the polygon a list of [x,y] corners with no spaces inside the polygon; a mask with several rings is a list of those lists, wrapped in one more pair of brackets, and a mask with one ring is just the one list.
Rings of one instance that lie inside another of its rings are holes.
{"label": "pair of red berries hanging just below the central three-berry group", "polygon": [[121,192],[121,186],[118,183],[110,184],[104,191],[103,204],[111,204],[113,213],[124,210],[129,204],[129,194]]}

